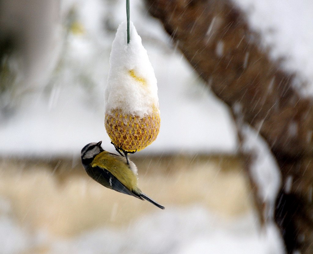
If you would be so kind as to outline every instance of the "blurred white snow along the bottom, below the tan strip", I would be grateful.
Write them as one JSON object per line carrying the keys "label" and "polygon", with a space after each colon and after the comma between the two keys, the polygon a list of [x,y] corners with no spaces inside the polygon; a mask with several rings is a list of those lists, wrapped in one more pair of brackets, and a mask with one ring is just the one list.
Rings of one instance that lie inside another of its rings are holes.
{"label": "blurred white snow along the bottom, below the tan strip", "polygon": [[[26,232],[7,217],[0,217],[2,254],[264,254],[282,253],[272,225],[259,231],[249,214],[235,221],[218,220],[201,206],[170,208],[141,217],[123,230],[103,227],[80,236],[51,240],[44,232]],[[37,249],[37,251],[36,251]]]}

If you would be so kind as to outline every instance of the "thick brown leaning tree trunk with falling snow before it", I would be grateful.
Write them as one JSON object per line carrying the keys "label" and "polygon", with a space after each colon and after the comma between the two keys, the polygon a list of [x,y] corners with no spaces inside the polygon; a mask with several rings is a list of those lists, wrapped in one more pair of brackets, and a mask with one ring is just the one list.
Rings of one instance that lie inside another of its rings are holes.
{"label": "thick brown leaning tree trunk with falling snow before it", "polygon": [[287,252],[313,253],[313,101],[293,86],[295,73],[270,59],[231,1],[145,2],[212,91],[229,107],[240,105],[244,121],[268,142],[283,179],[275,221]]}

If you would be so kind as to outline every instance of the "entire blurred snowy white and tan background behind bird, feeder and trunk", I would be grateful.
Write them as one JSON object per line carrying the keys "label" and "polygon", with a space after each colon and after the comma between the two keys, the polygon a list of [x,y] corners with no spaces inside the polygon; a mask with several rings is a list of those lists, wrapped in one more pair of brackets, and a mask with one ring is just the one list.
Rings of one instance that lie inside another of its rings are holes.
{"label": "entire blurred snowy white and tan background behind bird, feeder and trunk", "polygon": [[[273,58],[285,57],[299,80],[313,80],[310,1],[233,2]],[[79,168],[89,142],[114,151],[103,93],[125,1],[7,0],[0,10],[0,39],[13,38],[15,48],[2,60],[1,81],[10,86],[2,83],[0,94],[0,253],[283,253],[275,227],[259,229],[242,165],[232,161],[237,137],[227,107],[141,1],[131,1],[131,21],[155,70],[161,130],[136,154],[146,166],[139,184],[164,211],[104,190],[84,172],[63,183],[54,175],[59,158]],[[169,154],[191,159],[167,161]],[[203,154],[230,162],[200,160]],[[159,174],[160,165],[171,169]]]}

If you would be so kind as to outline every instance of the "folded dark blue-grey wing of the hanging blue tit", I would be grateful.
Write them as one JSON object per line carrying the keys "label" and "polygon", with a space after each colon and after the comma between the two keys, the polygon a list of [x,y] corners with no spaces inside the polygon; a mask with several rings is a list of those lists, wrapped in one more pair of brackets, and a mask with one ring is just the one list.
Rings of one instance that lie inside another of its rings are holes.
{"label": "folded dark blue-grey wing of the hanging blue tit", "polygon": [[[127,195],[131,195],[142,199],[142,197],[136,195],[135,193],[131,192],[128,188],[126,188],[115,176],[113,176],[108,170],[105,168],[101,168],[98,166],[92,167],[93,175],[96,182],[100,183],[101,185],[111,188],[117,192],[121,192]],[[109,183],[110,185],[108,186]]]}

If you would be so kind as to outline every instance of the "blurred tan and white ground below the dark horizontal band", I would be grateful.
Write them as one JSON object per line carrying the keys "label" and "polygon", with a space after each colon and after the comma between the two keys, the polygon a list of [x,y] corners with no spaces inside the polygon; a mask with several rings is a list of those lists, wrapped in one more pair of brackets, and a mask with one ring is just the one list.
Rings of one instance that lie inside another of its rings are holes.
{"label": "blurred tan and white ground below the dark horizontal band", "polygon": [[2,162],[0,253],[283,254],[277,229],[259,227],[240,163],[191,159],[144,162],[161,172],[171,166],[139,179],[165,210],[103,188],[78,168],[60,182],[53,166]]}

